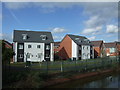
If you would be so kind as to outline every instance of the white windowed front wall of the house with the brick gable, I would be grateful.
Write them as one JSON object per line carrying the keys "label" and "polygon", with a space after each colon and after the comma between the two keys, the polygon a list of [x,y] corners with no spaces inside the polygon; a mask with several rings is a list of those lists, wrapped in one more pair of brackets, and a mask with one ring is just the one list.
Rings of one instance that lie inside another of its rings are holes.
{"label": "white windowed front wall of the house with the brick gable", "polygon": [[90,46],[82,45],[82,59],[90,59]]}

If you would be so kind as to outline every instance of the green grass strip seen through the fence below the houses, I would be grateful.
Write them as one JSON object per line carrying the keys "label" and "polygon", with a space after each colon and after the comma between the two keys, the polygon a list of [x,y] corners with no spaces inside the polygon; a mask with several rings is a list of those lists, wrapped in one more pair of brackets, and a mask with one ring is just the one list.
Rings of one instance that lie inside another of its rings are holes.
{"label": "green grass strip seen through the fence below the houses", "polygon": [[[48,64],[47,64],[48,63]],[[62,61],[63,71],[82,71],[85,68],[94,69],[94,68],[106,68],[114,67],[114,64],[117,64],[116,58],[97,58],[97,59],[88,59],[88,60],[77,60],[75,61]],[[21,66],[24,67],[26,63],[12,63],[11,66]],[[48,66],[47,66],[48,65]],[[61,72],[61,61],[54,62],[41,62],[41,63],[32,63],[31,68],[34,69],[44,69],[43,72],[48,73],[59,73]],[[48,70],[48,71],[46,71]],[[42,72],[42,71],[41,71]]]}

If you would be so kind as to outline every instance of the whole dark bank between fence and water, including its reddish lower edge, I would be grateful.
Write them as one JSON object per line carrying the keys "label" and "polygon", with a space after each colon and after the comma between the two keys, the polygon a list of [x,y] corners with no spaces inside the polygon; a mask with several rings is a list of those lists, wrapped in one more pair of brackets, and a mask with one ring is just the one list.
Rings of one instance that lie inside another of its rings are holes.
{"label": "whole dark bank between fence and water, including its reddish lower edge", "polygon": [[[66,81],[74,80],[75,77],[82,75],[83,77],[88,77],[90,73],[96,73],[94,75],[100,75],[101,72],[105,70],[111,70],[116,72],[119,67],[114,67],[111,69],[97,69],[96,71],[70,71],[56,74],[46,74],[40,71],[33,71],[30,69],[24,69],[24,71],[11,70],[6,77],[4,76],[3,88],[44,88],[50,85],[55,85],[59,83],[64,83]],[[108,73],[108,72],[107,72]],[[85,75],[87,74],[87,75]],[[91,76],[91,77],[93,77]],[[83,78],[82,77],[82,78]],[[77,78],[79,79],[79,78]],[[75,79],[76,80],[76,79]],[[62,82],[61,82],[62,81]]]}

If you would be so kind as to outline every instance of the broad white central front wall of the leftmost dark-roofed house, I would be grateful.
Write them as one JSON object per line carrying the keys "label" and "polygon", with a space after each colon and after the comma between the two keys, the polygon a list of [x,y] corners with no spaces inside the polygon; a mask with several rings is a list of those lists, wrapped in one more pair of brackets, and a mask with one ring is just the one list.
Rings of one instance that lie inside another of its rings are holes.
{"label": "broad white central front wall of the leftmost dark-roofed house", "polygon": [[[28,48],[28,45],[31,45],[31,48]],[[37,48],[37,45],[40,45],[40,48]],[[24,62],[26,62],[26,54],[30,53],[30,58],[27,58],[27,61],[32,62],[41,62],[44,60],[44,43],[33,43],[25,42],[24,43]],[[38,53],[41,53],[41,58],[38,58]]]}

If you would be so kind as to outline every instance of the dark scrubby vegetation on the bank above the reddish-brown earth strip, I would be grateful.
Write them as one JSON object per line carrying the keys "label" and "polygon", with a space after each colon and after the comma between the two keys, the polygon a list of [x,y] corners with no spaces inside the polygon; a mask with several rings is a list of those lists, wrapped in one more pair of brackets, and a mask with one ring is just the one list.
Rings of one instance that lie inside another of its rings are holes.
{"label": "dark scrubby vegetation on the bank above the reddish-brown earth strip", "polygon": [[[116,68],[113,69],[116,70]],[[45,83],[49,80],[71,78],[83,73],[88,73],[88,71],[89,70],[83,71],[81,73],[78,71],[69,71],[48,75],[47,73],[30,70],[29,68],[24,69],[24,71],[17,71],[13,69],[8,72],[9,77],[6,77],[7,82],[3,86],[3,88],[43,88],[45,86]],[[96,72],[101,71],[103,71],[103,69],[96,70]]]}

